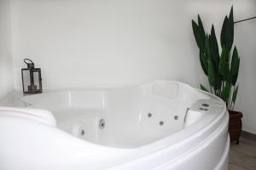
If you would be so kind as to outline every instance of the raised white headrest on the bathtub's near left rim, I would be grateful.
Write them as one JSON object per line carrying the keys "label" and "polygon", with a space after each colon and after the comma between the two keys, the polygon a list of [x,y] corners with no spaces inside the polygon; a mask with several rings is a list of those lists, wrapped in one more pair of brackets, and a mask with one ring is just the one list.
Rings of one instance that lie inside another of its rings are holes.
{"label": "raised white headrest on the bathtub's near left rim", "polygon": [[50,126],[56,126],[55,117],[46,110],[0,107],[0,116],[20,116],[32,119],[33,121],[43,122]]}

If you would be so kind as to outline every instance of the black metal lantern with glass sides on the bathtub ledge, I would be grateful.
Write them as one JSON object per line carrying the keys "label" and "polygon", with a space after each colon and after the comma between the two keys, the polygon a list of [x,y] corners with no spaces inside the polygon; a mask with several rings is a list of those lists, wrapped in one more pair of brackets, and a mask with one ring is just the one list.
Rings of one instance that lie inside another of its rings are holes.
{"label": "black metal lantern with glass sides on the bathtub ledge", "polygon": [[31,59],[24,59],[27,68],[21,69],[23,94],[42,93],[41,69],[35,68]]}

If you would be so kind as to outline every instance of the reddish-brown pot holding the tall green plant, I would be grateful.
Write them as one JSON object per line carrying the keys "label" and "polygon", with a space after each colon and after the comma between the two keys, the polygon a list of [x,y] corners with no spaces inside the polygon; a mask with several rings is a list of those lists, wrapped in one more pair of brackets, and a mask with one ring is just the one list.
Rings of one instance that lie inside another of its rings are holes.
{"label": "reddish-brown pot holding the tall green plant", "polygon": [[242,113],[239,111],[229,111],[229,133],[230,141],[236,141],[239,144],[239,138],[241,136],[241,117]]}

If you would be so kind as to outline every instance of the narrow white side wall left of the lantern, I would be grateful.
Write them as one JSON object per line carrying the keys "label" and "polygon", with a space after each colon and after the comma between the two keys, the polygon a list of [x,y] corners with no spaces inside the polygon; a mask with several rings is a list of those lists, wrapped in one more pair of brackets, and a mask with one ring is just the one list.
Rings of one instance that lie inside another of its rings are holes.
{"label": "narrow white side wall left of the lantern", "polygon": [[0,99],[13,90],[10,3],[0,0]]}

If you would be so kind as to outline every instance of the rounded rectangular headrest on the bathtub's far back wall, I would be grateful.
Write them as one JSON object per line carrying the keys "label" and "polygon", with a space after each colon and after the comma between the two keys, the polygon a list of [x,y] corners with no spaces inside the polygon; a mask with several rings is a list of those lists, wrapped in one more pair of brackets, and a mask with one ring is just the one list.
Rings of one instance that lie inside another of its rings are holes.
{"label": "rounded rectangular headrest on the bathtub's far back wall", "polygon": [[168,99],[175,99],[178,94],[178,84],[177,82],[156,81],[152,88],[152,94]]}

